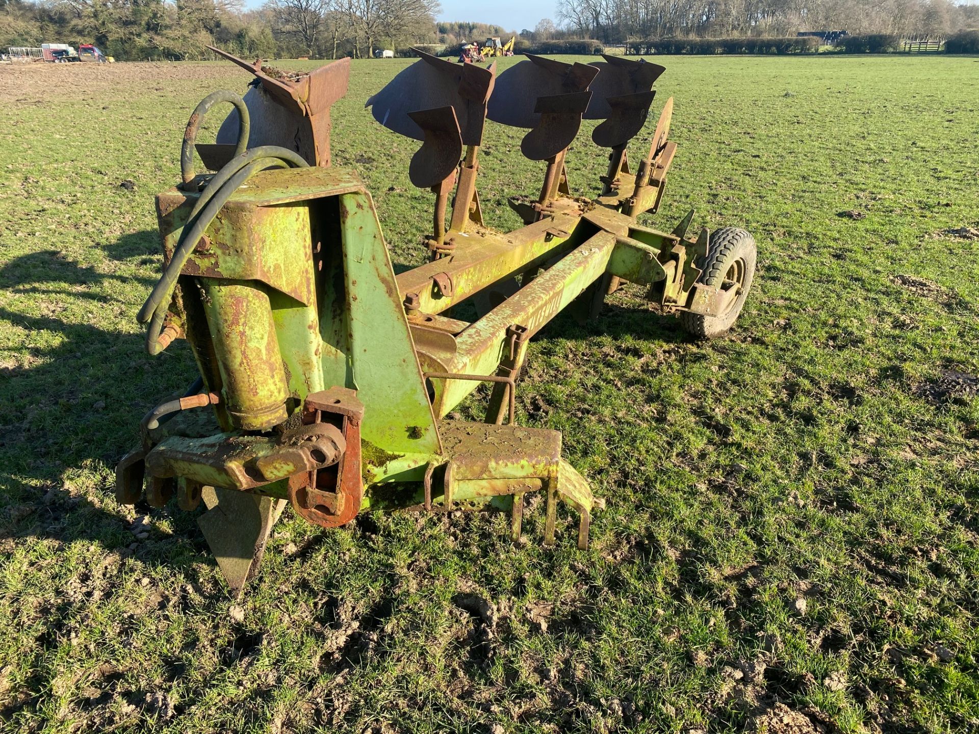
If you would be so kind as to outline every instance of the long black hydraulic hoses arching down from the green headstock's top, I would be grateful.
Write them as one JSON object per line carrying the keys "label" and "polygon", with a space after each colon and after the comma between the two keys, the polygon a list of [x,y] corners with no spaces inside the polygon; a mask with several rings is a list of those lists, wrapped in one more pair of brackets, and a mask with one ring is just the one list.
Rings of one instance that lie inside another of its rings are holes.
{"label": "long black hydraulic hoses arching down from the green headstock's top", "polygon": [[166,340],[163,340],[164,343],[161,344],[160,336],[163,330],[163,319],[169,308],[177,278],[191,252],[194,252],[221,207],[258,170],[285,167],[303,168],[308,167],[308,165],[299,154],[290,151],[288,148],[261,146],[228,161],[223,168],[214,174],[207,188],[201,192],[197,203],[191,209],[187,223],[180,233],[180,239],[173,249],[173,256],[170,257],[170,261],[163,271],[163,276],[136,316],[136,319],[142,324],[150,322],[146,335],[146,350],[150,354],[159,354],[168,344]]}

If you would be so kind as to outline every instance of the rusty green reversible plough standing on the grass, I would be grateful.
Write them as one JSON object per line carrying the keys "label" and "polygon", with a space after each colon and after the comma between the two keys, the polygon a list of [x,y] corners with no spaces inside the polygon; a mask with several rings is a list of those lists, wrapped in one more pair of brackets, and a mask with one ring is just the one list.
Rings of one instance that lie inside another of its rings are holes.
{"label": "rusty green reversible plough standing on the grass", "polygon": [[[216,51],[216,49],[214,49]],[[697,336],[733,323],[751,286],[755,244],[739,229],[688,234],[636,223],[655,212],[676,152],[673,100],[648,154],[630,167],[662,67],[614,57],[529,57],[502,72],[419,54],[368,101],[374,117],[421,141],[409,174],[435,194],[429,261],[395,275],[370,194],[330,165],[330,106],[349,60],[256,75],[244,99],[215,92],[191,115],[182,181],[157,198],[163,277],[139,313],[147,349],[187,340],[200,377],[143,420],[117,467],[117,496],[185,510],[232,593],[256,573],[287,503],[336,528],[368,510],[498,509],[519,538],[525,495],[546,497],[544,544],[559,502],[580,515],[578,545],[602,506],[561,458],[561,434],[518,426],[515,391],[528,341],[564,308],[597,315],[622,281]],[[217,143],[195,147],[210,107],[229,102]],[[478,194],[487,119],[526,128],[521,150],[545,165],[536,198],[511,206],[525,226],[490,229]],[[594,200],[572,197],[567,153],[583,119],[609,149]],[[195,149],[216,173],[194,171]],[[446,225],[447,220],[447,225]],[[463,301],[471,305],[457,316]],[[446,419],[489,384],[485,423]]]}

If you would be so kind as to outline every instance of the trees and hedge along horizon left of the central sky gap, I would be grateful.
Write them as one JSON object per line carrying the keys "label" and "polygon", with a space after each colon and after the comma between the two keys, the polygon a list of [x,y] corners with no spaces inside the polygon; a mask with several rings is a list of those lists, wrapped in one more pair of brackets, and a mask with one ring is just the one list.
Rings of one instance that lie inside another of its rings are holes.
{"label": "trees and hedge along horizon left of the central sky gap", "polygon": [[0,48],[94,43],[119,61],[208,58],[217,45],[245,58],[371,57],[380,48],[439,43],[438,0],[0,0]]}

